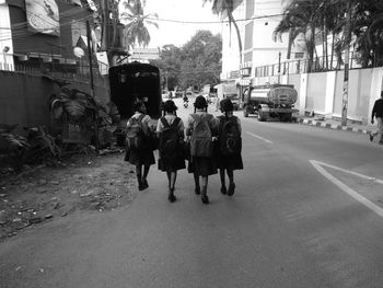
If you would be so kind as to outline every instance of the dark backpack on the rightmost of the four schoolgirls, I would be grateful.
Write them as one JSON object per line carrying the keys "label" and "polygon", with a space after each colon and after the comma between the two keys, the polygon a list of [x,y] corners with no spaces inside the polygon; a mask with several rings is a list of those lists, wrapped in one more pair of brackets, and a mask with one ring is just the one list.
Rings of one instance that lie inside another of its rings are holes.
{"label": "dark backpack on the rightmost of the four schoolgirls", "polygon": [[242,138],[241,131],[235,116],[229,119],[224,116],[220,118],[219,143],[220,151],[223,155],[241,154]]}

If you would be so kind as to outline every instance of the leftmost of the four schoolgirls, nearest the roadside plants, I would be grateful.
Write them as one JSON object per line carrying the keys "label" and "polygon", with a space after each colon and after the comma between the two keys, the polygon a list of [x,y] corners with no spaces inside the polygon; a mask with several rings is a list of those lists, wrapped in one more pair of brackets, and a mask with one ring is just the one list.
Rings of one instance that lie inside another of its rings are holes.
{"label": "leftmost of the four schoolgirls, nearest the roadside plants", "polygon": [[135,114],[127,123],[125,161],[136,165],[138,189],[143,191],[149,187],[147,177],[150,165],[155,164],[151,142],[154,127],[151,125],[151,117],[147,114],[143,102],[136,102],[134,110]]}

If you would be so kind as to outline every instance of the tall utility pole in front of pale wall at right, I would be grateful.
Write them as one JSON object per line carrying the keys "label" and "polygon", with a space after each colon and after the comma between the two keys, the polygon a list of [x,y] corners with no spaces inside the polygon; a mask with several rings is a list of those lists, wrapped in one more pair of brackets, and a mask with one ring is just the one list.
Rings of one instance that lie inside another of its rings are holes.
{"label": "tall utility pole in front of pale wall at right", "polygon": [[347,107],[348,107],[348,78],[349,78],[349,54],[350,54],[350,35],[351,34],[351,0],[347,1],[347,14],[345,26],[345,78],[344,78],[344,93],[341,97],[341,126],[347,125]]}

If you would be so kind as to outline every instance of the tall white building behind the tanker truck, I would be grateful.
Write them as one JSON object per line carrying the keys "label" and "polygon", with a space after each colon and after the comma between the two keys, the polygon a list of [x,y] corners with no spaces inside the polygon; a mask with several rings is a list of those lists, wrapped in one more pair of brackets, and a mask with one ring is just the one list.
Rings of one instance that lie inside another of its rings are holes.
{"label": "tall white building behind the tanker truck", "polygon": [[[255,77],[255,68],[278,65],[286,59],[288,35],[274,37],[282,13],[282,0],[237,0],[233,16],[240,28],[242,51],[236,32],[229,23],[222,25],[222,73],[221,81],[247,85]],[[223,15],[227,21],[227,15]],[[292,57],[303,57],[302,47],[293,45]]]}

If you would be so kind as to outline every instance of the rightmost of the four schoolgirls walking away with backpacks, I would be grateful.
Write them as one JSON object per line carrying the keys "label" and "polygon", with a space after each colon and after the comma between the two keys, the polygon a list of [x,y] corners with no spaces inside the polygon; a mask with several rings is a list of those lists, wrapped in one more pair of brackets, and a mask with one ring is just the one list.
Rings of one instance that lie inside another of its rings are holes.
{"label": "rightmost of the four schoolgirls walking away with backpacks", "polygon": [[[217,117],[216,162],[220,170],[221,193],[232,196],[235,191],[233,171],[243,169],[241,120],[233,115],[234,106],[230,99],[222,100],[220,108],[223,115]],[[224,172],[229,177],[229,189],[227,189]]]}

